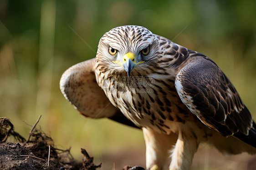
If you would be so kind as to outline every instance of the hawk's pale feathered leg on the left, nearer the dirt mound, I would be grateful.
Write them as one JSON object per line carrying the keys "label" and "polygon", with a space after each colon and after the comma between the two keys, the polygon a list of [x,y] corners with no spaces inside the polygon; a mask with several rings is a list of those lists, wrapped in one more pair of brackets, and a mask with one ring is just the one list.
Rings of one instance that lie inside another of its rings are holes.
{"label": "hawk's pale feathered leg on the left, nearer the dirt mound", "polygon": [[151,129],[142,128],[146,144],[146,168],[162,170],[169,157],[169,150],[175,145],[177,135],[160,134]]}

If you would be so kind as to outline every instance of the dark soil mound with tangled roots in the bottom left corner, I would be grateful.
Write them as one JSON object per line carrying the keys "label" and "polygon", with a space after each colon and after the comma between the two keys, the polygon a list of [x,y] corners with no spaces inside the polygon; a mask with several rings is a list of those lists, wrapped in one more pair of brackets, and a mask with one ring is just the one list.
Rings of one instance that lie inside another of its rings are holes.
{"label": "dark soil mound with tangled roots in the bottom left corner", "polygon": [[[40,117],[36,121],[36,124]],[[60,150],[54,145],[51,136],[42,130],[32,127],[29,137],[14,131],[10,120],[0,118],[0,169],[1,170],[96,170],[101,167],[93,163],[86,150],[81,149],[83,161],[74,160],[70,149]],[[20,143],[5,143],[8,137],[14,136]]]}

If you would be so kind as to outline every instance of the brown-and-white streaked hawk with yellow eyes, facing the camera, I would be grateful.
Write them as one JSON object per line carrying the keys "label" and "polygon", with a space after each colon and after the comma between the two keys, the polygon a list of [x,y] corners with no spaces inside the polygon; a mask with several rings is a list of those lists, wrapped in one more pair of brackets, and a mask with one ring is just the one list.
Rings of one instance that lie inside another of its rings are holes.
{"label": "brown-and-white streaked hawk with yellow eyes, facing the camera", "polygon": [[141,128],[147,169],[188,170],[201,142],[256,153],[256,124],[215,62],[142,26],[105,33],[96,58],[69,68],[60,87],[83,115]]}

